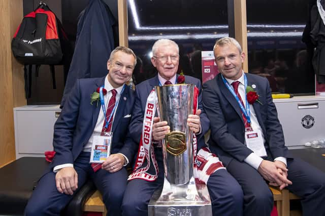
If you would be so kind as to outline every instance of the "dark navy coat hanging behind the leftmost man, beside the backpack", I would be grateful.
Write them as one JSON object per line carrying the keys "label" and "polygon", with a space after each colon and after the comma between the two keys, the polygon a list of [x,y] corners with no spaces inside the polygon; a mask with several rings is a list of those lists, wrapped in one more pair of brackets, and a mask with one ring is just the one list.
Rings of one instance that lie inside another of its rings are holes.
{"label": "dark navy coat hanging behind the leftmost man, beside the backpack", "polygon": [[81,13],[77,38],[61,108],[78,78],[103,77],[107,60],[114,49],[113,27],[117,24],[109,7],[102,0],[90,0]]}

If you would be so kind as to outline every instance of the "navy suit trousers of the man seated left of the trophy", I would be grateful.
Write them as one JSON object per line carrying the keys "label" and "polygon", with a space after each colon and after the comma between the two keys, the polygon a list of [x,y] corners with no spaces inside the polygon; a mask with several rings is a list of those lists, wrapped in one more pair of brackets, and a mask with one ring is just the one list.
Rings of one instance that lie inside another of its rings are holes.
{"label": "navy suit trousers of the man seated left of the trophy", "polygon": [[[78,174],[78,189],[85,184],[87,178],[90,178],[103,195],[107,215],[121,215],[120,206],[127,183],[126,169],[123,167],[113,173],[103,169],[94,172],[89,158],[89,152],[82,152],[74,162]],[[39,180],[25,208],[26,216],[60,215],[60,211],[73,198],[73,195],[61,194],[57,191],[55,175],[52,171],[47,172]]]}

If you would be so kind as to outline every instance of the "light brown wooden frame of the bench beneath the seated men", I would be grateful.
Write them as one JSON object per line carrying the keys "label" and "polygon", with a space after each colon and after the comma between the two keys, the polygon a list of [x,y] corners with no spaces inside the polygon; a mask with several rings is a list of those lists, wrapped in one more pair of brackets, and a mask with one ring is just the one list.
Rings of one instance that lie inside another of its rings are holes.
{"label": "light brown wooden frame of the bench beneath the seated men", "polygon": [[[270,186],[273,193],[273,199],[276,202],[276,208],[279,216],[290,216],[290,200],[300,199],[293,193],[290,193],[287,189],[280,190],[277,187]],[[92,196],[86,201],[84,211],[102,212],[105,216],[107,213],[105,204],[103,203],[102,194],[99,191],[95,191]]]}

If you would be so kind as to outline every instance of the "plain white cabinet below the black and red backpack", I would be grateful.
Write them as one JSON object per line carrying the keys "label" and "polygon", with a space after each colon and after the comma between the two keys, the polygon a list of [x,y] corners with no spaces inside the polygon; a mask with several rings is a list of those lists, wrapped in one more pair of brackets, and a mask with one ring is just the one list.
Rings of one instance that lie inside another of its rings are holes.
{"label": "plain white cabinet below the black and red backpack", "polygon": [[16,158],[44,157],[52,151],[53,126],[61,110],[59,105],[14,108]]}

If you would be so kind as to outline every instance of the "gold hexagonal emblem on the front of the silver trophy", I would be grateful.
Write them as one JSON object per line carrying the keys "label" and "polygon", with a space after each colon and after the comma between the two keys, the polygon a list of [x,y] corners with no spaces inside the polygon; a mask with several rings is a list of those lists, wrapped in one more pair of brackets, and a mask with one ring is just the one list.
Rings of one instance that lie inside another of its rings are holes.
{"label": "gold hexagonal emblem on the front of the silver trophy", "polygon": [[174,156],[182,154],[186,150],[185,133],[173,131],[166,135],[166,150]]}

